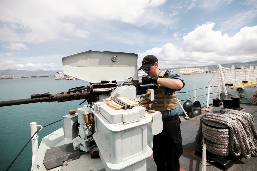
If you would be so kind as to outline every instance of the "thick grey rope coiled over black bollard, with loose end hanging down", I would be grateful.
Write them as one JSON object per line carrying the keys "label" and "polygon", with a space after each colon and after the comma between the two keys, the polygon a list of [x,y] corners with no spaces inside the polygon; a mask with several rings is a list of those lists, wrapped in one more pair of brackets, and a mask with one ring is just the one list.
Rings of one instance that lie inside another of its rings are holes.
{"label": "thick grey rope coiled over black bollard, with loose end hanging down", "polygon": [[[216,129],[206,126],[203,120],[227,125],[228,129]],[[195,138],[203,145],[203,170],[206,169],[206,150],[218,156],[257,157],[257,131],[253,116],[233,109],[223,109],[221,115],[205,114]]]}

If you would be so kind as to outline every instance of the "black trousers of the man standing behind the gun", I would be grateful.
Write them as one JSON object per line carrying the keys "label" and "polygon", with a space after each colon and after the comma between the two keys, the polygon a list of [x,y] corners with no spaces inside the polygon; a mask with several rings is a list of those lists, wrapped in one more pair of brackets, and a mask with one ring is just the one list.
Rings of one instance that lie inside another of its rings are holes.
{"label": "black trousers of the man standing behind the gun", "polygon": [[158,171],[179,171],[183,153],[179,116],[163,118],[163,130],[153,136],[153,159]]}

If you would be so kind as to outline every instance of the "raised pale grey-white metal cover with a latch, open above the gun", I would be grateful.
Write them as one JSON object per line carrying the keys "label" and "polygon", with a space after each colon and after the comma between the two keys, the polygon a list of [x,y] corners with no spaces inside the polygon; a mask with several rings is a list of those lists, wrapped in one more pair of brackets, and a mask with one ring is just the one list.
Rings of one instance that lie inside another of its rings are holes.
{"label": "raised pale grey-white metal cover with a latch, open above the gun", "polygon": [[[116,57],[115,62],[113,56]],[[139,79],[137,57],[134,53],[89,50],[63,57],[63,73],[90,83],[113,79],[120,82],[130,77]]]}

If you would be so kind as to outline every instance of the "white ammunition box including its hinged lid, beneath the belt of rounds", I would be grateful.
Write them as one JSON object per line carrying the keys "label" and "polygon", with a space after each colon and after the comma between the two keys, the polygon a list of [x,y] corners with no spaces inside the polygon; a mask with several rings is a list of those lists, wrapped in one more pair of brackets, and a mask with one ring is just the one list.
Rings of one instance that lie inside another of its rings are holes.
{"label": "white ammunition box including its hinged lid, beneath the belt of rounds", "polygon": [[147,145],[147,124],[152,117],[145,113],[145,108],[114,110],[100,103],[99,111],[93,113],[96,118],[93,137],[105,169],[146,170],[146,159],[152,155]]}

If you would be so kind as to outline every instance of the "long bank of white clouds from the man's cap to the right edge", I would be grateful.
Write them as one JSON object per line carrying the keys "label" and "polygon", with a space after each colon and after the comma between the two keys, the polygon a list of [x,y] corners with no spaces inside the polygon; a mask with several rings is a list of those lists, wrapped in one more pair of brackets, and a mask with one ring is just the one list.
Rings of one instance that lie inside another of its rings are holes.
{"label": "long bank of white clouds from the man's cap to the right edge", "polygon": [[[257,25],[244,27],[234,36],[214,31],[215,23],[197,26],[184,36],[183,46],[165,44],[139,53],[139,62],[146,55],[155,55],[160,68],[202,66],[230,62],[248,62],[257,59]],[[140,65],[141,66],[141,65]]]}

